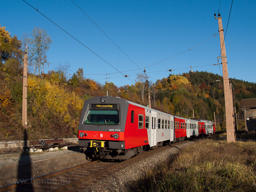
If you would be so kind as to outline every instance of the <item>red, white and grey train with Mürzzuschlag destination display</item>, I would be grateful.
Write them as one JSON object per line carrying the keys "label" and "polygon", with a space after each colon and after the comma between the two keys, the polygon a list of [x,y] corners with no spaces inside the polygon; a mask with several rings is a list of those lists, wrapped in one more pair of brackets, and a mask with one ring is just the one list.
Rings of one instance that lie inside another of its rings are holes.
{"label": "red, white and grey train with M\u00fcrzzuschlag destination display", "polygon": [[185,119],[104,96],[84,101],[78,140],[92,158],[129,159],[147,148],[213,133],[212,121]]}

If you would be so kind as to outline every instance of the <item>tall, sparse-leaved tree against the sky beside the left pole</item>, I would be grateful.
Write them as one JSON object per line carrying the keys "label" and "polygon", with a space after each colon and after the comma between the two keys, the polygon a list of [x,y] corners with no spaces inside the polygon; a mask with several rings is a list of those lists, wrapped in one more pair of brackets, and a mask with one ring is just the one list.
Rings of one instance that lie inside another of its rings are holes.
{"label": "tall, sparse-leaved tree against the sky beside the left pole", "polygon": [[34,65],[34,75],[37,69],[38,76],[40,76],[41,71],[41,78],[43,78],[44,65],[47,64],[46,52],[52,44],[52,38],[44,28],[39,27],[35,27],[30,35],[31,37],[28,39],[30,47],[29,61]]}

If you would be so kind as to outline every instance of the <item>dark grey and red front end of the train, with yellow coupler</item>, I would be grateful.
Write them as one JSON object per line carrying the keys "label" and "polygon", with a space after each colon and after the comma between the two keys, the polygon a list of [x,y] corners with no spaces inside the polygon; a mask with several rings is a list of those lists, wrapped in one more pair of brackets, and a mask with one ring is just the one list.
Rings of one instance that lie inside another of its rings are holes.
{"label": "dark grey and red front end of the train, with yellow coupler", "polygon": [[78,127],[78,142],[92,158],[129,159],[124,127],[128,102],[116,97],[95,97],[84,101]]}

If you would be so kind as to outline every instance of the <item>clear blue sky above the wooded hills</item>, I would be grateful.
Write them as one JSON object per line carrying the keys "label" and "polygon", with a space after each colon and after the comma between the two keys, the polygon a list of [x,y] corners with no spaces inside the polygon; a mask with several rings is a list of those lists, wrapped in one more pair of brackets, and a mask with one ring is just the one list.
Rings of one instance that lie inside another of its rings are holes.
{"label": "clear blue sky above the wooded hills", "polygon": [[68,61],[70,77],[83,68],[85,78],[124,86],[134,84],[144,68],[153,83],[170,73],[189,72],[190,65],[193,71],[222,75],[222,66],[212,66],[220,55],[219,35],[213,37],[219,30],[214,13],[220,10],[229,77],[256,81],[255,0],[234,1],[229,22],[232,0],[73,1],[115,44],[71,0],[26,2],[82,44],[23,0],[1,1],[0,24],[19,38],[35,26],[45,28],[53,41],[48,61],[55,64],[48,70]]}

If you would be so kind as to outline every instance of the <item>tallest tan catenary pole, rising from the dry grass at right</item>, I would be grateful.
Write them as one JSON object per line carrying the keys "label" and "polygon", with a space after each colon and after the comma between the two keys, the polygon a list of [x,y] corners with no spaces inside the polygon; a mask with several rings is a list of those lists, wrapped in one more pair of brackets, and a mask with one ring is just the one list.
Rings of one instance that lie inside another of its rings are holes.
{"label": "tallest tan catenary pole, rising from the dry grass at right", "polygon": [[227,141],[232,142],[235,141],[234,135],[234,118],[232,115],[232,105],[231,103],[231,95],[230,95],[230,86],[229,86],[229,77],[228,77],[228,63],[227,63],[227,55],[225,49],[224,42],[224,29],[222,27],[222,20],[220,17],[220,13],[218,17],[214,14],[215,19],[218,19],[219,23],[219,32],[220,32],[220,49],[221,49],[221,61],[222,61],[222,73],[223,73],[223,82],[224,82],[224,96],[225,96],[225,110],[226,110],[226,126],[227,126]]}

